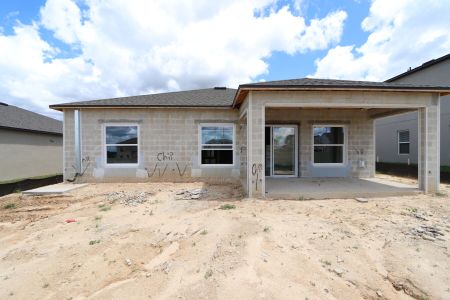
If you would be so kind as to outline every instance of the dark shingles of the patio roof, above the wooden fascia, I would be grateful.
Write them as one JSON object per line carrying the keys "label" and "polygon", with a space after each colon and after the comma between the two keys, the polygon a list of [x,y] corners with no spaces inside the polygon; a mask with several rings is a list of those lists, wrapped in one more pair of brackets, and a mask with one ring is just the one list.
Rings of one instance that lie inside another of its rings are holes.
{"label": "dark shingles of the patio roof, above the wooden fascia", "polygon": [[241,84],[239,88],[351,88],[351,89],[392,89],[392,90],[445,90],[449,87],[433,85],[417,85],[407,83],[391,83],[377,81],[355,81],[337,79],[299,78],[288,80],[265,81],[257,83]]}

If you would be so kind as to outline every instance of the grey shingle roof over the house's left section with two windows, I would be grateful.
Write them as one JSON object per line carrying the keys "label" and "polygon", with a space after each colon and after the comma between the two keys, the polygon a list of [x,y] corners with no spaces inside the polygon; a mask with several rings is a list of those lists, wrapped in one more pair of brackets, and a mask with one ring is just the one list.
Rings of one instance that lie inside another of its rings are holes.
{"label": "grey shingle roof over the house's left section with two windows", "polygon": [[231,107],[235,89],[211,88],[121,98],[80,101],[50,105],[50,108],[68,107]]}

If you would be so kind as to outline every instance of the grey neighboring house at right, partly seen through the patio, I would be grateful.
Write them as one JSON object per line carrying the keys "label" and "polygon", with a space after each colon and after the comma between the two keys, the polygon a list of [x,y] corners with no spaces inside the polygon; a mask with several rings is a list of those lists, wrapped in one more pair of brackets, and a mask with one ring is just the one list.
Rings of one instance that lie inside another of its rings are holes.
{"label": "grey neighboring house at right, partly seen through the patio", "polygon": [[[450,54],[424,63],[386,82],[450,85]],[[450,166],[450,96],[441,97],[441,166]],[[417,164],[417,113],[382,118],[376,122],[377,160],[387,163]]]}

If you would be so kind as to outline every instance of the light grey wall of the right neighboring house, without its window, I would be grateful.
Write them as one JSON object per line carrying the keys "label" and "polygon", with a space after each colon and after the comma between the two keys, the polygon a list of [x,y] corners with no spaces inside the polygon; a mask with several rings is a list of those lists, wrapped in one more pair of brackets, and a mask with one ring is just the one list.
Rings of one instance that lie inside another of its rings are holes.
{"label": "light grey wall of the right neighboring house, without its window", "polygon": [[[442,61],[408,76],[399,78],[396,83],[450,85],[450,59]],[[450,166],[450,95],[441,97],[441,165]],[[377,120],[377,144],[376,152],[380,162],[407,162],[417,163],[418,157],[418,119],[417,113],[408,113],[399,116],[391,116]],[[409,156],[398,155],[397,131],[408,129],[411,143]],[[386,142],[384,142],[386,141]]]}

